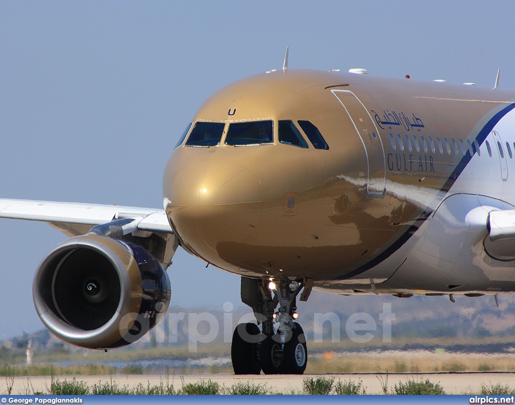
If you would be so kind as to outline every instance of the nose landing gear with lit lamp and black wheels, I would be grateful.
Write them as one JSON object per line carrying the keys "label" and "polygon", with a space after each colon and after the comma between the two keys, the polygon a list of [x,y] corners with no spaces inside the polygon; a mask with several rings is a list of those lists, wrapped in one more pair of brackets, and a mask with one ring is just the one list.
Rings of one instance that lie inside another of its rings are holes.
{"label": "nose landing gear with lit lamp and black wheels", "polygon": [[260,374],[261,370],[265,374],[304,373],[306,338],[301,326],[294,322],[299,316],[296,298],[302,288],[301,300],[306,300],[311,291],[306,280],[242,277],[242,301],[254,310],[263,331],[254,324],[236,327],[231,346],[234,374]]}

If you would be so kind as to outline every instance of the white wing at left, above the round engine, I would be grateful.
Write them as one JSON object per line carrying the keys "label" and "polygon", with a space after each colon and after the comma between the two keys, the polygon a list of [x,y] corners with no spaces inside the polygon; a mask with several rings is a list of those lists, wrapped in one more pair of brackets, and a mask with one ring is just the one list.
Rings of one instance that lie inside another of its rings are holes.
{"label": "white wing at left, above the round engine", "polygon": [[116,205],[0,199],[0,218],[43,221],[73,237],[93,226],[123,218],[143,217],[138,230],[173,234],[164,210]]}

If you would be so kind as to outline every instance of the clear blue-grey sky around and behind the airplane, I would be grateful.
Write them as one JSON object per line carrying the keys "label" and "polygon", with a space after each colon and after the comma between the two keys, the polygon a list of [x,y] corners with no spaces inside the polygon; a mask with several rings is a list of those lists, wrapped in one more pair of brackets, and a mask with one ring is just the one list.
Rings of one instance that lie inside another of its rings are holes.
{"label": "clear blue-grey sky around and behind the airplane", "polygon": [[[0,197],[162,209],[203,100],[282,68],[515,88],[515,2],[0,2]],[[0,220],[0,340],[43,327],[40,260],[65,236]],[[172,302],[239,302],[239,277],[177,252]]]}

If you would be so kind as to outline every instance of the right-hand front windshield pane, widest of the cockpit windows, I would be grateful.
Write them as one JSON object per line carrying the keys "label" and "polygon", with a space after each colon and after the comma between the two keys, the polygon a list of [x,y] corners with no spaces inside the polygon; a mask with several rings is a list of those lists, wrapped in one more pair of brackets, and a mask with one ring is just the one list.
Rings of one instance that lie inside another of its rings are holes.
{"label": "right-hand front windshield pane, widest of the cockpit windows", "polygon": [[261,145],[273,142],[273,121],[233,122],[229,125],[226,145]]}

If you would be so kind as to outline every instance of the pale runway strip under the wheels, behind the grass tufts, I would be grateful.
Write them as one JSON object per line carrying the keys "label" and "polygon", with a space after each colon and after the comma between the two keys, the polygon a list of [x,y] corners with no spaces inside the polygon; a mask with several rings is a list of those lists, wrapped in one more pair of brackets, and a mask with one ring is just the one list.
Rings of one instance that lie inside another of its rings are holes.
{"label": "pale runway strip under the wheels, behind the grass tufts", "polygon": [[[298,393],[302,391],[302,381],[305,378],[317,377],[335,377],[338,379],[353,380],[355,382],[362,380],[363,386],[366,388],[367,394],[382,394],[381,377],[385,380],[385,374],[324,374],[324,375],[276,375],[276,376],[234,376],[224,374],[196,374],[196,375],[170,375],[169,383],[173,384],[175,389],[178,390],[182,384],[194,383],[200,380],[211,380],[218,382],[220,385],[229,387],[237,382],[250,381],[254,384],[266,384],[274,392],[291,392],[295,390]],[[183,380],[181,379],[183,378]],[[59,380],[72,380],[74,376],[58,376]],[[113,376],[75,376],[78,381],[85,381],[90,387],[93,384],[110,381],[116,382],[118,386],[128,385],[133,387],[142,383],[159,384],[164,380],[164,376],[160,375],[113,375]],[[393,388],[394,384],[399,384],[399,381],[405,382],[409,379],[425,380],[429,379],[431,382],[439,382],[447,394],[476,394],[479,392],[481,383],[487,385],[501,383],[502,385],[509,385],[515,388],[515,373],[424,373],[424,374],[389,374],[388,386]],[[47,392],[47,387],[50,386],[49,376],[35,376],[35,377],[15,377],[12,394],[32,394],[33,391]],[[7,381],[2,379],[0,381],[0,393],[6,393]]]}

